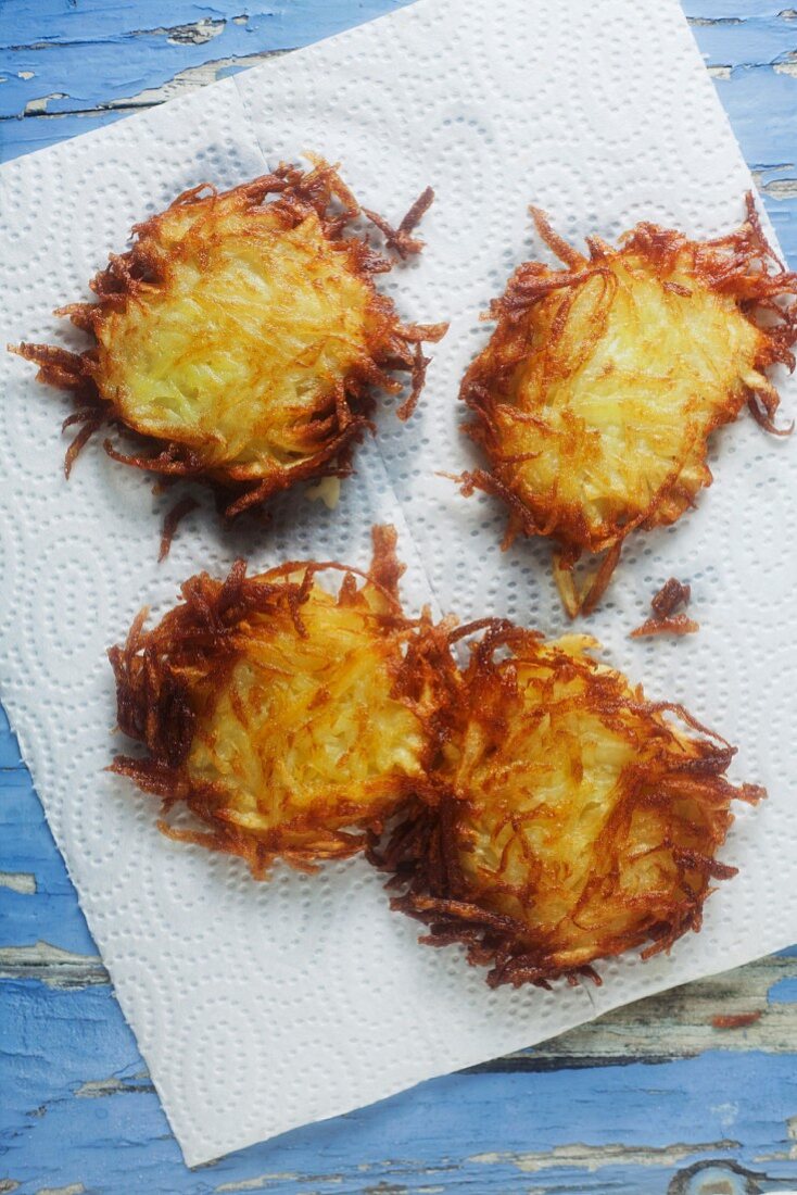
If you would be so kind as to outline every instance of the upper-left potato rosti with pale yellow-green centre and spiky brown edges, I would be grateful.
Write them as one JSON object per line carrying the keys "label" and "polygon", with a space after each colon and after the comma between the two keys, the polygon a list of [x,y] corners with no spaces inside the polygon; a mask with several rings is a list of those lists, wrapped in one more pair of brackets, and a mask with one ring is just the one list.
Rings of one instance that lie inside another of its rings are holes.
{"label": "upper-left potato rosti with pale yellow-green centre and spiky brown edges", "polygon": [[[269,198],[270,197],[270,198]],[[424,191],[398,229],[366,213],[400,256],[433,201]],[[268,202],[265,202],[268,200]],[[281,166],[217,194],[178,196],[134,229],[92,289],[96,304],[62,308],[96,345],[80,355],[16,349],[39,379],[74,392],[80,424],[67,474],[104,423],[145,437],[112,456],[166,477],[209,480],[227,515],[304,478],[347,471],[374,393],[411,376],[406,417],[423,386],[423,341],[446,325],[404,325],[373,276],[391,269],[366,240],[347,235],[360,208],[323,163]]]}

